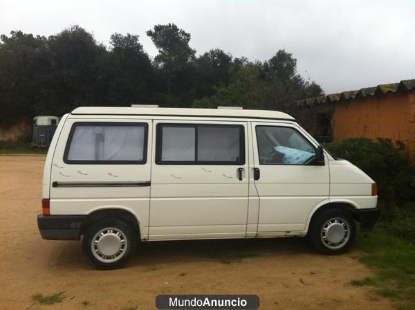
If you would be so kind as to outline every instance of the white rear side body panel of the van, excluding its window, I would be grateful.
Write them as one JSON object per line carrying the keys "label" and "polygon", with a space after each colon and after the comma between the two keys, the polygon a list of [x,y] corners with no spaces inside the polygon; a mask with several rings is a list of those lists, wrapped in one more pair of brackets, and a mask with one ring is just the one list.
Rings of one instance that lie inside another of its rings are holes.
{"label": "white rear side body panel of the van, excluding its window", "polygon": [[[142,239],[147,239],[151,181],[151,142],[147,143],[145,164],[65,163],[66,141],[75,122],[68,118],[59,137],[50,172],[50,215],[88,215],[95,210],[118,208],[131,212],[140,225]],[[102,122],[89,118],[87,122]],[[113,118],[105,122],[131,122]],[[133,120],[147,124],[151,141],[151,120]]]}

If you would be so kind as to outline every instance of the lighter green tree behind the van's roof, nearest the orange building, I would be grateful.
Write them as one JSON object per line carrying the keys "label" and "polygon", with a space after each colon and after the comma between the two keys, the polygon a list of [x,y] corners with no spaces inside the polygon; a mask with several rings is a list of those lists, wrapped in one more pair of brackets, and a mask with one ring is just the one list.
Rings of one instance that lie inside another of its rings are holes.
{"label": "lighter green tree behind the van's roof, nearest the orange building", "polygon": [[264,63],[252,63],[246,57],[235,58],[229,72],[228,86],[217,87],[210,98],[194,100],[193,106],[237,105],[249,109],[279,110],[295,116],[295,100],[322,94],[319,85],[297,74],[297,60],[284,50]]}

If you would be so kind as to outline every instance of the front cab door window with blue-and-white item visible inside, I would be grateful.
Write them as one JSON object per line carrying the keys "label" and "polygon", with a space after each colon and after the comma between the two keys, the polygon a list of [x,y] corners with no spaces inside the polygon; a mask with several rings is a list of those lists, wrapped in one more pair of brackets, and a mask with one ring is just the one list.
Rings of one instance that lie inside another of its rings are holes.
{"label": "front cab door window with blue-and-white item visible inside", "polygon": [[291,127],[257,126],[261,165],[304,165],[315,156],[315,148]]}

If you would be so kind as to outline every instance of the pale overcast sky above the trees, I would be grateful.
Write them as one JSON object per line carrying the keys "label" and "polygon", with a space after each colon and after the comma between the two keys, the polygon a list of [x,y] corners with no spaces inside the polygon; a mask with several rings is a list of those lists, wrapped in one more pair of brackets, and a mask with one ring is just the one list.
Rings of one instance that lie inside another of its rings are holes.
{"label": "pale overcast sky above the trees", "polygon": [[111,33],[140,35],[174,23],[197,53],[221,48],[267,60],[293,53],[298,73],[326,93],[415,78],[415,1],[20,1],[0,0],[0,33],[53,35],[79,24],[108,44]]}

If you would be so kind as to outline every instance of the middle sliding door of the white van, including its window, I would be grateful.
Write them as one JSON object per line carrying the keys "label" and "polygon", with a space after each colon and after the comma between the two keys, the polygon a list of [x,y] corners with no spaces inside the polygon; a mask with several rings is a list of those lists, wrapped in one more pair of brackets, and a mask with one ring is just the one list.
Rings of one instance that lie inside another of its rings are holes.
{"label": "middle sliding door of the white van, including its window", "polygon": [[247,128],[154,120],[149,239],[246,236]]}

